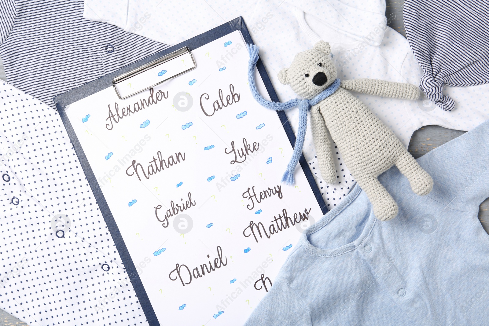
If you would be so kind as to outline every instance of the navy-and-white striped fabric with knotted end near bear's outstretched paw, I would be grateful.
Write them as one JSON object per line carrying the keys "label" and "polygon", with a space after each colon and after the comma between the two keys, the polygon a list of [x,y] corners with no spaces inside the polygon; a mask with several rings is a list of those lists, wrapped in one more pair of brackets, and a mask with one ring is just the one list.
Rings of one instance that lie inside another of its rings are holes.
{"label": "navy-and-white striped fabric with knotted end near bear's outstretched paw", "polygon": [[450,111],[443,87],[489,83],[489,0],[405,0],[406,36],[424,75],[420,88]]}

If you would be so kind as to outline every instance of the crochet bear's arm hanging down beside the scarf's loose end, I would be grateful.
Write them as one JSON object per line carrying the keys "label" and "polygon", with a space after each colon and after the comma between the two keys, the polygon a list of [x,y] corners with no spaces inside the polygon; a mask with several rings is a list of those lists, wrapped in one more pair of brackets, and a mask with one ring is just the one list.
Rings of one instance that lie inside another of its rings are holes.
{"label": "crochet bear's arm hanging down beside the scarf's loose end", "polygon": [[331,152],[330,137],[324,118],[319,112],[319,105],[311,108],[311,131],[321,176],[327,183],[334,183],[336,182],[336,167]]}

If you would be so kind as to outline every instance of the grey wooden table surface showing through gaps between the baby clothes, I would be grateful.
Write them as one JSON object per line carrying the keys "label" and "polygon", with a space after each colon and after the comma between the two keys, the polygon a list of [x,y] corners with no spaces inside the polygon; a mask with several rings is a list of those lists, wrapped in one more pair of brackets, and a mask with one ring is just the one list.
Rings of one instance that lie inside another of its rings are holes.
{"label": "grey wooden table surface showing through gaps between the baby clothes", "polygon": [[[385,15],[390,18],[389,26],[406,36],[402,23],[402,5],[404,0],[386,0],[387,8]],[[0,79],[6,80],[5,72],[0,60]],[[425,126],[416,130],[409,142],[408,151],[415,157],[421,157],[423,154],[445,144],[463,134],[464,131],[445,129],[440,126]],[[482,226],[489,233],[489,198],[480,206],[479,219]],[[0,309],[0,323],[3,326],[27,325],[10,314]],[[2,326],[0,324],[0,326]]]}

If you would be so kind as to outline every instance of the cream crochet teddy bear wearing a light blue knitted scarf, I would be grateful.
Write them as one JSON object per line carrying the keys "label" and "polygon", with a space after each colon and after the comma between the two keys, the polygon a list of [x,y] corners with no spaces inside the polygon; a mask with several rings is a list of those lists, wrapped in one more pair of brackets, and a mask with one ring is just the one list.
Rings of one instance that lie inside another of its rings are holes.
{"label": "cream crochet teddy bear wearing a light blue knitted scarf", "polygon": [[270,102],[258,93],[255,86],[254,65],[258,60],[258,46],[247,47],[250,54],[248,79],[255,99],[264,107],[275,110],[299,106],[294,154],[282,181],[293,183],[293,170],[302,154],[307,112],[310,110],[314,147],[322,177],[329,183],[334,183],[336,179],[330,135],[343,155],[348,170],[367,194],[378,219],[388,220],[398,213],[398,205],[377,179],[393,165],[407,177],[415,194],[422,196],[431,191],[431,176],[406,151],[396,135],[349,92],[416,100],[420,96],[418,87],[367,78],[340,82],[330,57],[330,44],[319,41],[312,49],[298,53],[289,68],[282,69],[278,74],[282,84],[289,85],[305,100]]}

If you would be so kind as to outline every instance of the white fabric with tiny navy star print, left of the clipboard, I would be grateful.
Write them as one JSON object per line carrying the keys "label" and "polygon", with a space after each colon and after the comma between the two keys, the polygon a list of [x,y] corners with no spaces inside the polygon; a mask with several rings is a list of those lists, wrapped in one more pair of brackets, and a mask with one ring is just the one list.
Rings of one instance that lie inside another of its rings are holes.
{"label": "white fabric with tiny navy star print, left of the clipboard", "polygon": [[33,325],[148,325],[58,112],[0,84],[0,307]]}

